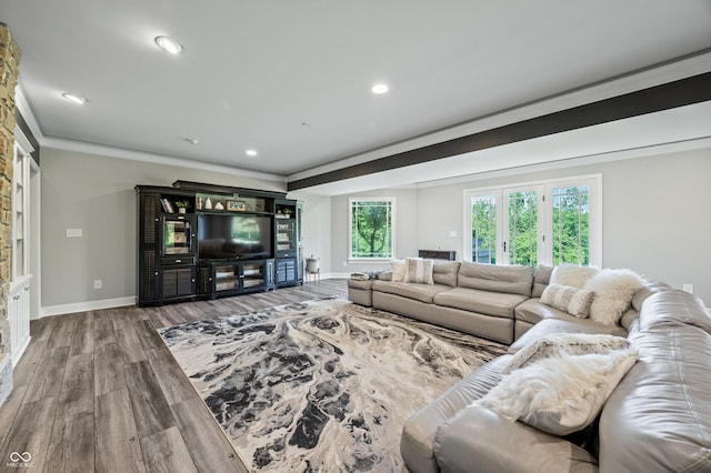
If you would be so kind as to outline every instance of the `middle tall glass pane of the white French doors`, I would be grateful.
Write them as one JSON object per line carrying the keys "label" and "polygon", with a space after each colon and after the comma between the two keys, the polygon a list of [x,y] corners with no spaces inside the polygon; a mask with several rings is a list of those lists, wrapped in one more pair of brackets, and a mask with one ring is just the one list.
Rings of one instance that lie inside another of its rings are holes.
{"label": "middle tall glass pane of the white French doors", "polygon": [[538,266],[538,192],[509,193],[509,264]]}

